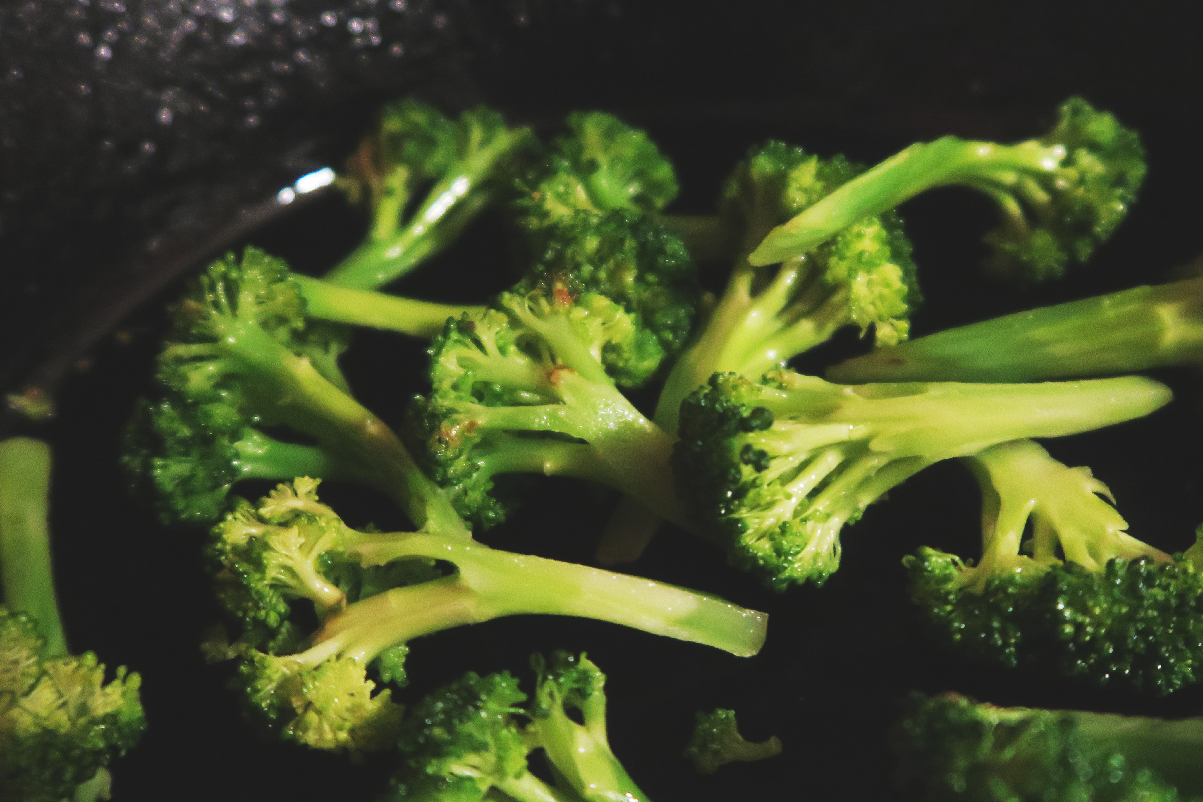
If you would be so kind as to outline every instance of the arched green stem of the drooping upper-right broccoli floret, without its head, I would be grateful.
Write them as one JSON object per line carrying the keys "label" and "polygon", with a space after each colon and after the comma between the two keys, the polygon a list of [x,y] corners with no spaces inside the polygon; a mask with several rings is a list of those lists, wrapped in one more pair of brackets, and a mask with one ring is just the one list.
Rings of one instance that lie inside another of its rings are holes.
{"label": "arched green stem of the drooping upper-right broccoli floret, without its head", "polygon": [[946,136],[915,143],[770,231],[748,262],[763,266],[802,256],[857,220],[893,209],[934,186],[970,184],[1008,200],[1015,191],[1032,195],[1037,190],[1024,183],[1024,176],[1051,173],[1063,158],[1062,145],[1038,142],[1002,145]]}

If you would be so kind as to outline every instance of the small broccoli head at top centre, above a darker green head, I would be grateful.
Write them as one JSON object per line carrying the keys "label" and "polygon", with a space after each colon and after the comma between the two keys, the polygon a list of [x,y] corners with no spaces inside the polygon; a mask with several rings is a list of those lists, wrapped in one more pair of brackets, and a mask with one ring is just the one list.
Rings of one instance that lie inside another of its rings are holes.
{"label": "small broccoli head at top centre, above a darker green head", "polygon": [[529,232],[580,210],[650,213],[676,197],[672,165],[644,131],[600,112],[569,114],[568,127],[520,182],[517,208]]}

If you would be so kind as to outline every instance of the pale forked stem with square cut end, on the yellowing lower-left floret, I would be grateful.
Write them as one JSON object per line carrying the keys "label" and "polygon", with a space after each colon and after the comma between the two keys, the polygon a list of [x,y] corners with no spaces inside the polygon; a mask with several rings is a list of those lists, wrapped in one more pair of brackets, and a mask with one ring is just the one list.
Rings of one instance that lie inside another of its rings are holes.
{"label": "pale forked stem with square cut end, on the yellowing lower-left floret", "polygon": [[326,620],[307,657],[298,655],[303,663],[336,653],[367,663],[421,635],[516,614],[608,620],[739,657],[764,643],[764,613],[651,580],[437,535],[349,533],[346,542],[366,568],[426,557],[457,571],[348,606]]}

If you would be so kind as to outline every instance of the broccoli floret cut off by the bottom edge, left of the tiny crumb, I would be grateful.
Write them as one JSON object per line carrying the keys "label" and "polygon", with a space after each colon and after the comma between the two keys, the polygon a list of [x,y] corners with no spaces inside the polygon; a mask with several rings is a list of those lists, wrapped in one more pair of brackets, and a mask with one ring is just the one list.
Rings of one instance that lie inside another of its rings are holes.
{"label": "broccoli floret cut off by the bottom edge, left of the tiny crumb", "polygon": [[[423,699],[402,727],[405,767],[385,798],[646,802],[610,749],[605,675],[583,654],[535,654],[531,664],[538,678],[526,708],[509,672],[468,672]],[[537,749],[555,785],[531,772]]]}

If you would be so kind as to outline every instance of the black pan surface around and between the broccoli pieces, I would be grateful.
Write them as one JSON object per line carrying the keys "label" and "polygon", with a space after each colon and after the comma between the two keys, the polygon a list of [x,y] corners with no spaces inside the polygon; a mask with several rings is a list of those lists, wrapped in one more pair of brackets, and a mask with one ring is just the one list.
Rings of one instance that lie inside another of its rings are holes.
{"label": "black pan surface around and between the broccoli pieces", "polygon": [[[269,201],[297,176],[339,164],[380,101],[408,91],[448,108],[485,101],[544,132],[575,108],[617,112],[675,161],[680,212],[712,208],[730,165],[768,136],[871,162],[948,132],[1026,138],[1072,94],[1142,132],[1149,178],[1139,203],[1089,267],[1055,286],[1019,291],[978,273],[991,220],[980,198],[944,190],[908,203],[928,298],[914,317],[921,334],[1158,281],[1203,251],[1198,22],[1155,5],[1107,14],[1085,4],[5,4],[0,381],[6,391],[26,381],[59,387],[53,422],[5,426],[57,448],[55,558],[73,648],[144,678],[150,729],[117,764],[115,798],[367,800],[390,771],[389,758],[351,765],[260,741],[243,725],[221,688],[225,670],[205,666],[196,648],[219,620],[202,537],[159,527],[115,468],[120,429],[148,387],[162,305],[178,292],[174,277],[242,242],[308,272],[356,244],[363,220],[340,198],[284,214]],[[504,227],[486,218],[397,290],[482,301],[509,281],[508,248]],[[722,272],[710,269],[716,289]],[[799,367],[820,370],[859,347],[846,334]],[[422,358],[417,343],[365,332],[345,364],[357,394],[395,422],[421,390]],[[1201,387],[1186,370],[1156,375],[1177,393],[1169,408],[1047,445],[1095,469],[1132,534],[1177,551],[1203,521]],[[352,525],[404,525],[371,495],[331,487],[325,498]],[[547,480],[487,540],[589,562],[612,503]],[[825,587],[783,595],[666,528],[629,570],[770,612],[760,655],[595,622],[514,618],[416,641],[413,684],[398,696],[469,669],[529,676],[527,657],[538,649],[588,650],[610,676],[612,745],[662,801],[888,798],[885,731],[895,700],[912,688],[998,703],[1203,713],[1197,690],[1165,700],[1097,691],[966,664],[926,641],[900,560],[919,545],[973,553],[978,513],[967,474],[936,465],[845,533],[842,568]],[[693,712],[716,706],[734,707],[752,738],[778,735],[784,754],[694,774],[678,753]]]}

